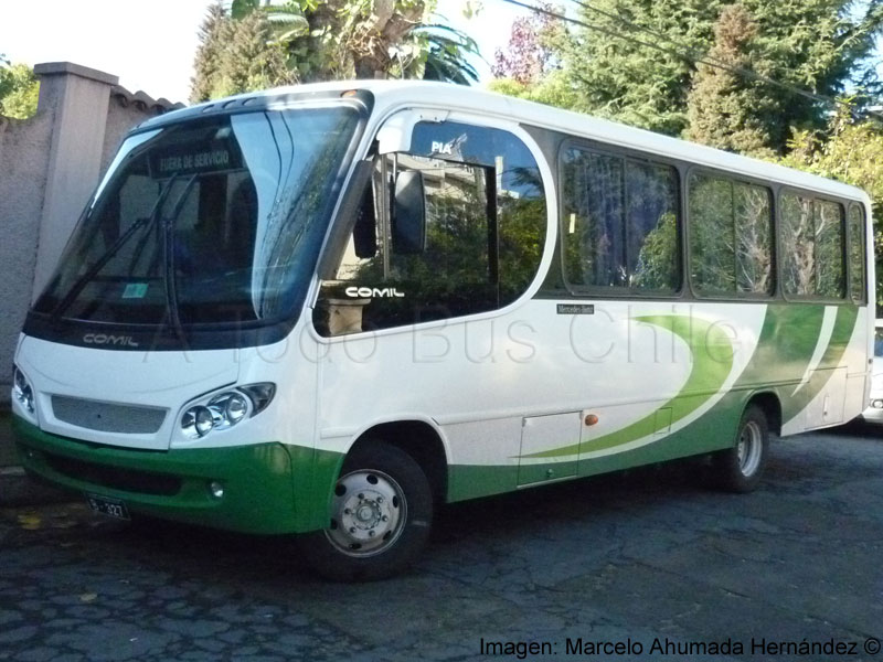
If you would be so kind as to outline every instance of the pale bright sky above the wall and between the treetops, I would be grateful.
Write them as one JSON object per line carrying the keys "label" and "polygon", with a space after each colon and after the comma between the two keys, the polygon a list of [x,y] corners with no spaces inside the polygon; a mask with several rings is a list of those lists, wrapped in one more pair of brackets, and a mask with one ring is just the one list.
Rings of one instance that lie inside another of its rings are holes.
{"label": "pale bright sky above the wall and between the treetops", "polygon": [[[129,92],[171,102],[190,94],[198,31],[214,0],[2,0],[0,53],[34,65],[68,61],[119,76]],[[525,10],[501,0],[482,0],[482,10],[466,20],[466,0],[438,0],[437,13],[479,43],[493,61],[509,41],[512,20]],[[474,1],[475,4],[475,1]],[[440,22],[440,21],[439,21]],[[487,63],[476,62],[482,79]]]}

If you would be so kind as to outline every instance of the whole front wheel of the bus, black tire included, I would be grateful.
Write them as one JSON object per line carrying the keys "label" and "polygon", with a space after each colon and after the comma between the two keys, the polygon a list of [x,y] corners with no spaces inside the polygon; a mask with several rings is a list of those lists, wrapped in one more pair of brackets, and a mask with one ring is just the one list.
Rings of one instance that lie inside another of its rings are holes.
{"label": "whole front wheel of the bus, black tire included", "polygon": [[326,579],[383,579],[419,555],[432,521],[432,490],[417,462],[395,446],[370,441],[343,462],[331,525],[299,536],[298,546]]}

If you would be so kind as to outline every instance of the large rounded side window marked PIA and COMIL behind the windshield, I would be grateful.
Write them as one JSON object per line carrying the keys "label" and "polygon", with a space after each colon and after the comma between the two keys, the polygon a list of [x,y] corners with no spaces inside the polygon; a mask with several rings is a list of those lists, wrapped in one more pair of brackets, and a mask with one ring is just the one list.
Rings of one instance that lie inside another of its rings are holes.
{"label": "large rounded side window marked PIA and COMIL behind the windshield", "polygon": [[[393,193],[408,172],[422,180],[423,246],[394,242]],[[323,335],[342,335],[502,308],[536,276],[545,229],[539,167],[520,140],[499,129],[419,122],[409,152],[376,159],[313,323]]]}

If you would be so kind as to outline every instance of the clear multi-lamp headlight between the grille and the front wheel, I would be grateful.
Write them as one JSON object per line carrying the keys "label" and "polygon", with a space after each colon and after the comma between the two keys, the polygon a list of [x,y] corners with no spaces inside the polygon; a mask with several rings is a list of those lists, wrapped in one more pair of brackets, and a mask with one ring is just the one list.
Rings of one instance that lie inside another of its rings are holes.
{"label": "clear multi-lamp headlight between the grille and the front wheel", "polygon": [[212,430],[232,428],[241,420],[263,412],[275,394],[275,384],[263,383],[210,396],[184,412],[181,431],[189,439],[201,439]]}

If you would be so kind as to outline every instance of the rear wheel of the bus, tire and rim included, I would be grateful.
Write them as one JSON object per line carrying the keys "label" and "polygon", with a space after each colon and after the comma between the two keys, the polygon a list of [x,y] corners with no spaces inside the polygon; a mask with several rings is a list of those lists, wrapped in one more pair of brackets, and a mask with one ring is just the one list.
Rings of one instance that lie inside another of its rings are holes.
{"label": "rear wheel of the bus, tire and rim included", "polygon": [[733,447],[712,456],[712,484],[728,492],[754,491],[766,469],[768,450],[766,414],[757,405],[749,405],[740,420]]}

